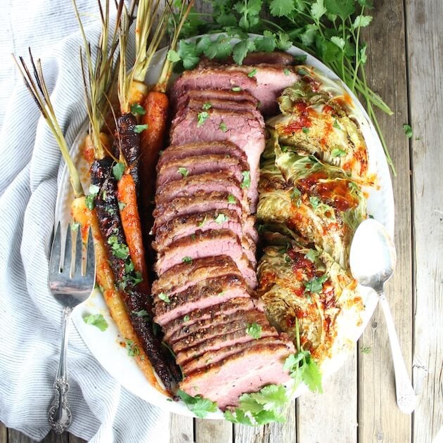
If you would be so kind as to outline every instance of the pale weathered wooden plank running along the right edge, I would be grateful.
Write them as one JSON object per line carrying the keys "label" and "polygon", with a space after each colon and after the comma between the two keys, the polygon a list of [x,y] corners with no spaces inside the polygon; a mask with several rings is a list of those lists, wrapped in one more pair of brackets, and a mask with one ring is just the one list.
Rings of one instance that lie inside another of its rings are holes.
{"label": "pale weathered wooden plank running along the right edge", "polygon": [[418,394],[413,442],[416,443],[441,442],[443,433],[442,16],[442,0],[406,1],[413,128],[413,383]]}

